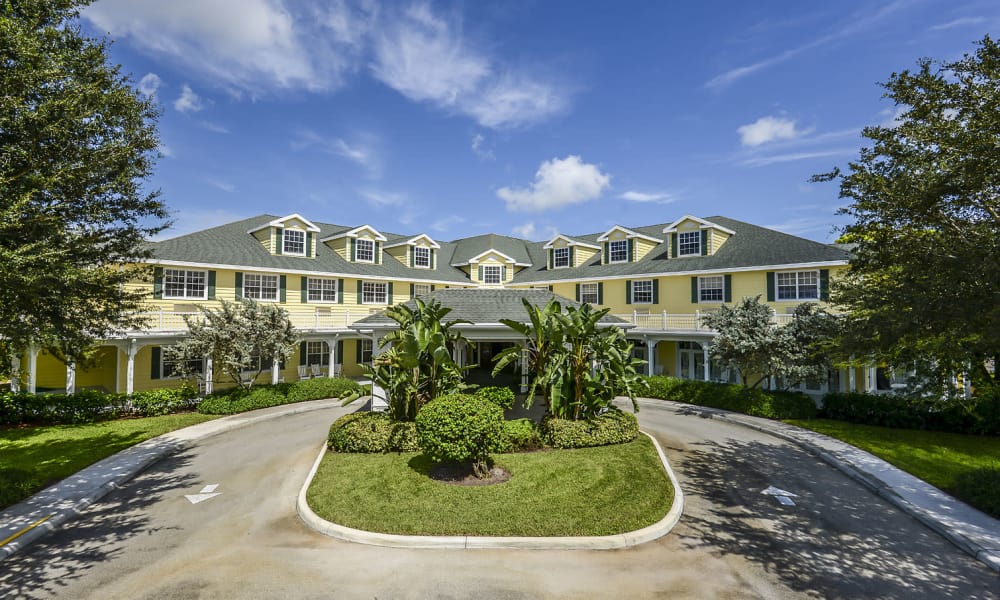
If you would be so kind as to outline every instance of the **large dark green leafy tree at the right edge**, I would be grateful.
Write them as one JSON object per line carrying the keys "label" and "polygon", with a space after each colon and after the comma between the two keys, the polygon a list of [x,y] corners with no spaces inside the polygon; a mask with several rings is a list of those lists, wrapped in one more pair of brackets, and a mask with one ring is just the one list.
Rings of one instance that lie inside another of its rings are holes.
{"label": "large dark green leafy tree at the right edge", "polygon": [[[972,370],[1000,394],[1000,45],[920,60],[882,84],[898,117],[837,180],[851,269],[833,286],[845,347],[924,364],[939,381]],[[930,358],[930,360],[927,360]]]}

